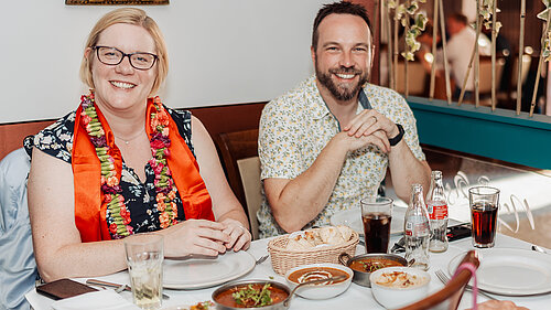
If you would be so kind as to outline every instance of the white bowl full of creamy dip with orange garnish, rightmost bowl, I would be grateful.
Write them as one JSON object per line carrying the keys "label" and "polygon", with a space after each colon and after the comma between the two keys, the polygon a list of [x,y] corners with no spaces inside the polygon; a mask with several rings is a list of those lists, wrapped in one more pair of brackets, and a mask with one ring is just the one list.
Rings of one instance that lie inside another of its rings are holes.
{"label": "white bowl full of creamy dip with orange garnish, rightmost bowl", "polygon": [[388,267],[371,272],[369,280],[377,302],[396,309],[425,298],[431,275],[412,267]]}

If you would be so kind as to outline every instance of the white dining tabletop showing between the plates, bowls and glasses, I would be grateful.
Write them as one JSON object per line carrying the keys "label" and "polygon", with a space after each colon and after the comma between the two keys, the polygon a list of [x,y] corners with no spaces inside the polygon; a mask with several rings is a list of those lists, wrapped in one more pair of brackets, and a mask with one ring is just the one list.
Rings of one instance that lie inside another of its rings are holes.
{"label": "white dining tabletop showing between the plates, bowls and glasses", "polygon": [[[399,239],[399,237],[400,236],[398,235],[391,236],[390,244],[391,245],[395,244]],[[267,255],[269,240],[270,238],[253,240],[247,253],[250,254],[253,257],[253,259],[258,259]],[[503,234],[496,235],[495,246],[488,249],[474,248],[472,245],[471,237],[451,242],[449,249],[446,252],[430,253],[430,269],[428,271],[431,275],[431,280],[429,285],[429,293],[436,292],[444,286],[436,278],[435,271],[444,270],[446,274],[450,274],[449,268],[451,261],[454,260],[456,261],[458,257],[462,257],[466,252],[471,249],[476,249],[479,253],[482,260],[484,260],[485,256],[489,256],[489,254],[499,250],[503,250],[505,253],[507,253],[507,250],[515,250],[516,253],[520,253],[521,255],[523,253],[521,250],[526,250],[526,254],[530,254],[531,244]],[[356,255],[364,253],[365,253],[365,247],[358,244],[356,248]],[[549,260],[551,260],[551,256]],[[519,261],[519,264],[522,264],[522,261]],[[506,275],[508,270],[503,270],[503,272]],[[547,270],[545,272],[551,274],[551,270]],[[515,275],[511,275],[510,277],[515,277]],[[121,271],[114,275],[95,277],[95,278],[116,284],[130,285],[128,271]],[[248,271],[244,276],[238,277],[236,280],[248,280],[248,279],[276,280],[285,284],[285,278],[283,276],[278,275],[272,269],[270,259],[267,259],[261,264],[255,265],[252,267],[252,270]],[[75,279],[75,280],[80,282],[86,281],[86,279]],[[510,280],[515,281],[515,279]],[[218,284],[212,287],[198,288],[198,289],[164,289],[163,290],[164,293],[169,295],[170,299],[163,300],[162,309],[185,309],[177,307],[192,306],[201,301],[212,300],[212,293],[222,285],[223,284]],[[132,300],[131,292],[122,291],[120,293],[126,299]],[[495,299],[511,300],[517,306],[522,306],[528,309],[536,309],[536,310],[551,309],[551,291],[537,295],[530,295],[530,292],[528,292],[526,293],[526,296],[503,296],[497,293],[490,293],[490,296],[493,296]],[[30,302],[30,304],[32,306],[32,308],[35,310],[52,309],[52,303],[54,302],[54,300],[36,293],[36,290],[34,289],[28,292],[25,297]],[[478,302],[483,302],[488,300],[488,298],[483,295],[478,295],[477,300]],[[466,290],[465,293],[463,295],[463,299],[461,301],[458,309],[468,309],[472,307],[472,304],[473,304],[472,291]],[[371,295],[370,288],[358,286],[353,282],[344,293],[331,299],[309,300],[295,296],[291,301],[290,309],[334,310],[334,309],[385,309],[385,308],[376,301],[376,299]]]}

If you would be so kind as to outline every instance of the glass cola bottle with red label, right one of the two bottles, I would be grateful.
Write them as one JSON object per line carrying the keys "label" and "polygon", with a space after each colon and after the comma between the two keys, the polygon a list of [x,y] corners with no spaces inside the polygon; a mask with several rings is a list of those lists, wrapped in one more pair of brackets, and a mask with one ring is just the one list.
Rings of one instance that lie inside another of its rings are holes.
{"label": "glass cola bottle with red label, right one of the two bottles", "polygon": [[442,184],[442,171],[432,171],[432,181],[426,194],[426,210],[431,226],[429,250],[445,252],[447,249],[447,203]]}

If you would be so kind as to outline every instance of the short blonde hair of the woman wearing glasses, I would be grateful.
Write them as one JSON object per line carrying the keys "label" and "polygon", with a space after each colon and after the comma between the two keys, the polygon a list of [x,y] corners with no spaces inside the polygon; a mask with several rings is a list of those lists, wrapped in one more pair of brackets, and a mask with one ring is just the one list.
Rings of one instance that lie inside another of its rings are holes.
{"label": "short blonde hair of the woman wearing glasses", "polygon": [[[163,84],[169,73],[169,54],[159,25],[152,18],[148,17],[145,11],[137,8],[121,8],[105,14],[91,29],[88,40],[86,41],[86,49],[94,47],[98,43],[101,32],[116,23],[128,23],[142,26],[153,38],[156,55],[159,57],[156,78],[150,95],[154,94]],[[94,56],[94,53],[88,53],[88,56],[83,57],[83,62],[80,63],[80,79],[89,87],[95,88],[91,76],[91,56]]]}

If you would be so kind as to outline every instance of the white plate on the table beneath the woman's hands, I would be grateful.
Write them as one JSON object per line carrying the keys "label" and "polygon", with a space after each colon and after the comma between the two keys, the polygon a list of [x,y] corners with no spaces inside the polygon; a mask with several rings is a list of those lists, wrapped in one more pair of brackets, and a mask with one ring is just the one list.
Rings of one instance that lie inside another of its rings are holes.
{"label": "white plate on the table beneath the woman's hands", "polygon": [[237,279],[255,268],[255,257],[247,252],[227,252],[216,258],[165,259],[163,287],[199,289]]}

